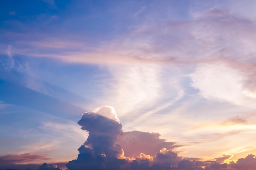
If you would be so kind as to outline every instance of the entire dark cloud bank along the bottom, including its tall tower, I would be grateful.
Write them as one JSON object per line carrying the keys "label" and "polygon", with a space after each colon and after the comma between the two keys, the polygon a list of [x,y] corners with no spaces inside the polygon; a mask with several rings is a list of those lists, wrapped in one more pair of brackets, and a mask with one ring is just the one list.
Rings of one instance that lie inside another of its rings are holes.
{"label": "entire dark cloud bank along the bottom, including its tall tower", "polygon": [[252,154],[236,163],[230,160],[233,155],[223,155],[215,161],[184,159],[171,150],[178,146],[174,142],[160,139],[158,133],[124,132],[119,119],[113,118],[117,118],[116,114],[107,106],[82,115],[78,124],[89,136],[78,149],[77,158],[66,164],[68,170],[254,170],[256,167]]}

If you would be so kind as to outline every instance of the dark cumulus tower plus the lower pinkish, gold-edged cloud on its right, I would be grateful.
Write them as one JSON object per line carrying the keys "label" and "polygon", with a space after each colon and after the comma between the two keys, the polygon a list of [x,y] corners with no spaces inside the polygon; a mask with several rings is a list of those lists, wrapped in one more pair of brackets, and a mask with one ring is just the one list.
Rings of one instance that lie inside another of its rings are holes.
{"label": "dark cumulus tower plus the lower pinkish, gold-edged cloud on its right", "polygon": [[[177,153],[161,148],[163,145],[174,148],[175,145],[174,143],[166,142],[164,139],[159,139],[160,135],[157,133],[123,132],[122,124],[119,123],[119,119],[112,107],[102,107],[96,113],[86,112],[82,115],[78,124],[82,126],[82,130],[89,132],[89,136],[78,149],[77,159],[66,164],[69,170],[171,168],[177,166],[183,159],[178,157]],[[139,140],[139,138],[142,139]],[[143,138],[146,138],[148,143]],[[147,147],[139,148],[143,143]],[[130,157],[125,154],[121,144],[124,144],[126,149],[129,150],[128,155]],[[129,144],[130,147],[128,146]],[[153,151],[150,149],[151,147]],[[153,154],[157,147],[159,147],[158,152],[159,150],[160,152],[155,153],[154,157],[147,154]]]}

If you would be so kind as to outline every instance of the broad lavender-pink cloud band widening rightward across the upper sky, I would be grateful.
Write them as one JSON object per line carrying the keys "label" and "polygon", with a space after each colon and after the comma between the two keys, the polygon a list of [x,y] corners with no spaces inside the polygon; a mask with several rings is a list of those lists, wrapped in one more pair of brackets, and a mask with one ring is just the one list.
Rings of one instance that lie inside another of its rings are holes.
{"label": "broad lavender-pink cloud band widening rightward across the upper sky", "polygon": [[[144,7],[141,8],[143,9]],[[152,24],[143,22],[135,29],[131,29],[128,34],[116,37],[115,40],[101,42],[93,49],[84,41],[79,42],[70,37],[56,40],[54,36],[48,36],[40,41],[34,37],[32,41],[23,42],[25,47],[22,49],[18,46],[21,44],[17,42],[19,40],[14,40],[17,45],[14,44],[13,50],[15,49],[16,54],[53,57],[71,63],[194,64],[219,60],[238,64],[240,67],[242,65],[248,67],[252,64],[247,60],[240,62],[240,56],[252,59],[250,54],[255,53],[253,48],[255,38],[250,36],[255,33],[253,29],[255,23],[252,20],[221,9],[191,13],[191,17],[192,19],[186,22],[162,21]],[[205,29],[206,27],[209,29]],[[56,44],[60,45],[56,46]],[[60,47],[70,50],[61,52]]]}

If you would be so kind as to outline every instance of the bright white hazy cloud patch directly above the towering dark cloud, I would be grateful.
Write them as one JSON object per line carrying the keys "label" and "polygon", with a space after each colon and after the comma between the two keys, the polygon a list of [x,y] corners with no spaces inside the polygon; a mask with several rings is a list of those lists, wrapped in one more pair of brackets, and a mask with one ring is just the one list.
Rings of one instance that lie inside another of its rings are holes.
{"label": "bright white hazy cloud patch directly above the towering dark cloud", "polygon": [[109,105],[119,114],[152,105],[162,94],[160,71],[161,67],[152,64],[111,67],[112,87],[106,89]]}

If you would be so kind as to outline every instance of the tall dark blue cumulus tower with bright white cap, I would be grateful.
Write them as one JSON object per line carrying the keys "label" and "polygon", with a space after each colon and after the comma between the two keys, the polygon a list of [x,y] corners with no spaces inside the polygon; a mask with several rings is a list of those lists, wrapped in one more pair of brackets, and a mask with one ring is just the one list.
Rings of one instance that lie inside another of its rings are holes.
{"label": "tall dark blue cumulus tower with bright white cap", "polygon": [[111,119],[115,118],[111,110],[110,107],[103,107],[96,114],[86,112],[82,115],[78,124],[82,126],[82,130],[89,132],[89,136],[78,149],[77,159],[66,164],[69,170],[118,170],[127,163],[123,159],[122,147],[116,143],[117,136],[122,134],[122,125],[117,119]]}

